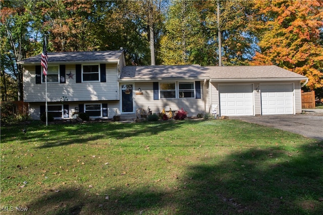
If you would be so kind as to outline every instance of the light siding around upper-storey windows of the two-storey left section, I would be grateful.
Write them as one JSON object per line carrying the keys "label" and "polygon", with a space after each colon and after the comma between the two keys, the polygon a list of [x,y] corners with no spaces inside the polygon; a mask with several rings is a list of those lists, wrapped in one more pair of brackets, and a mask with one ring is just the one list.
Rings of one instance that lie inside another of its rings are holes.
{"label": "light siding around upper-storey windows of the two-storey left section", "polygon": [[[69,101],[119,100],[117,63],[106,64],[106,82],[76,83],[75,64],[66,65],[66,84],[47,83],[48,102],[60,101],[63,96]],[[69,78],[68,74],[73,74]],[[45,83],[35,84],[35,66],[26,66],[24,71],[24,101],[45,101]]]}

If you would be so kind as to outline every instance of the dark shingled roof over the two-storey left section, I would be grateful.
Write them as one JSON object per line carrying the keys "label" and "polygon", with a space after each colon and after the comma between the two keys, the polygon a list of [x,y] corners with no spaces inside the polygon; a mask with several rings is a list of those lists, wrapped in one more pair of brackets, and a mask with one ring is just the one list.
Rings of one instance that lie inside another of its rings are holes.
{"label": "dark shingled roof over the two-storey left section", "polygon": [[[48,63],[51,62],[102,62],[117,61],[123,55],[118,51],[74,51],[74,52],[48,52]],[[40,63],[41,54],[26,58],[17,62],[18,64]]]}

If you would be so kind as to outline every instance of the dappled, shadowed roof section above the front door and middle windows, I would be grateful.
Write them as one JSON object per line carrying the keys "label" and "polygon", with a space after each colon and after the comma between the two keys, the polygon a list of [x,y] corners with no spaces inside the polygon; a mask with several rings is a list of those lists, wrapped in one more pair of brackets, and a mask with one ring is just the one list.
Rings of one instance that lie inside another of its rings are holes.
{"label": "dappled, shadowed roof section above the front door and middle windows", "polygon": [[206,68],[200,65],[148,65],[125,66],[121,80],[151,81],[160,79],[204,79],[208,78]]}

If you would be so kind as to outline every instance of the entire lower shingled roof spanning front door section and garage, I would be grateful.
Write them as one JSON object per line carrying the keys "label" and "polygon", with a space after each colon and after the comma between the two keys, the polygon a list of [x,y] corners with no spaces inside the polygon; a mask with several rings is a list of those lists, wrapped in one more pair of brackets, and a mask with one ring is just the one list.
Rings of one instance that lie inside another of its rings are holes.
{"label": "entire lower shingled roof spanning front door section and garage", "polygon": [[261,66],[200,66],[200,65],[155,65],[125,66],[122,81],[151,81],[165,79],[210,79],[212,82],[254,80],[306,80],[305,76],[293,73],[276,65]]}

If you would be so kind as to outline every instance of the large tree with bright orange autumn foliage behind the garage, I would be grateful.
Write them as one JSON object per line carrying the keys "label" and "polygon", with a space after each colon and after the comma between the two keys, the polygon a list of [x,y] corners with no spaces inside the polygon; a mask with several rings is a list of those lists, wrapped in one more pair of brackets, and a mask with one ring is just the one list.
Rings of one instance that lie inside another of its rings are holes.
{"label": "large tree with bright orange autumn foliage behind the garage", "polygon": [[323,87],[322,1],[256,1],[253,26],[260,51],[252,64],[274,64],[308,78],[307,88]]}

